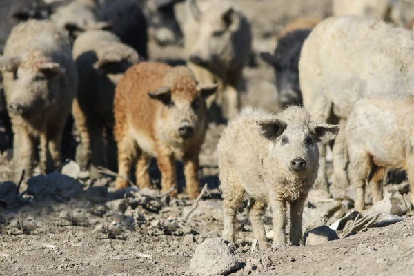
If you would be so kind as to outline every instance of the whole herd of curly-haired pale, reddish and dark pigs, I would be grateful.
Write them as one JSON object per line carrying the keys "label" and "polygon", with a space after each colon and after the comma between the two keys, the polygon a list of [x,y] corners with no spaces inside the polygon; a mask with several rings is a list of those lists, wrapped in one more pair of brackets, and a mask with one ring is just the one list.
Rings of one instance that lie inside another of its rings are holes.
{"label": "whole herd of curly-haired pale, reddish and dark pigs", "polygon": [[[311,188],[355,186],[355,209],[382,200],[388,170],[406,170],[414,204],[413,21],[402,1],[333,0],[335,17],[288,24],[274,53],[283,110],[241,108],[243,69],[254,56],[250,23],[237,1],[3,0],[0,7],[0,120],[12,137],[16,183],[38,165],[47,174],[73,156],[90,177],[117,171],[115,188],[152,188],[155,157],[161,192],[177,186],[197,199],[199,152],[207,123],[226,122],[217,145],[224,199],[223,237],[235,242],[245,197],[260,248],[268,248],[263,215],[273,212],[273,246],[303,244],[302,213]],[[3,3],[4,2],[4,3]],[[183,44],[186,65],[148,61],[148,41]],[[62,142],[63,141],[63,142]],[[39,144],[39,146],[38,146]],[[2,150],[10,147],[0,145]],[[37,150],[39,148],[39,150]],[[177,192],[170,193],[176,196]]]}

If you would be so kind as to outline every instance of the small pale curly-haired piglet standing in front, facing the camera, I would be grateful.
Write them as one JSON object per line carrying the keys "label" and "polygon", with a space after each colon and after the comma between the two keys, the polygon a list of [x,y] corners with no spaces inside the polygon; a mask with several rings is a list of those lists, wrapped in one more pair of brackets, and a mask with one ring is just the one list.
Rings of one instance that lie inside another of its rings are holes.
{"label": "small pale curly-haired piglet standing in front, facing the camera", "polygon": [[339,128],[311,121],[304,108],[290,106],[277,115],[244,109],[219,140],[220,189],[224,199],[223,238],[235,242],[237,209],[250,199],[250,222],[260,248],[268,248],[262,216],[273,210],[273,246],[286,246],[286,204],[290,204],[290,242],[303,244],[302,212],[317,177],[317,143],[335,138]]}

